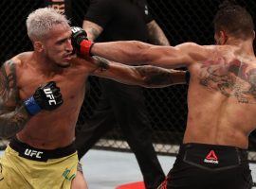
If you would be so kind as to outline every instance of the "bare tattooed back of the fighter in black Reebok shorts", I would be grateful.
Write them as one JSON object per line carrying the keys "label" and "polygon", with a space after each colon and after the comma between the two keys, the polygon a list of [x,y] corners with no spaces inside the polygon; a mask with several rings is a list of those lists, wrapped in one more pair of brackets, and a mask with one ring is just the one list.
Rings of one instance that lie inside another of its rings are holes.
{"label": "bare tattooed back of the fighter in black Reebok shorts", "polygon": [[256,128],[256,60],[229,46],[192,64],[184,143],[247,148]]}

